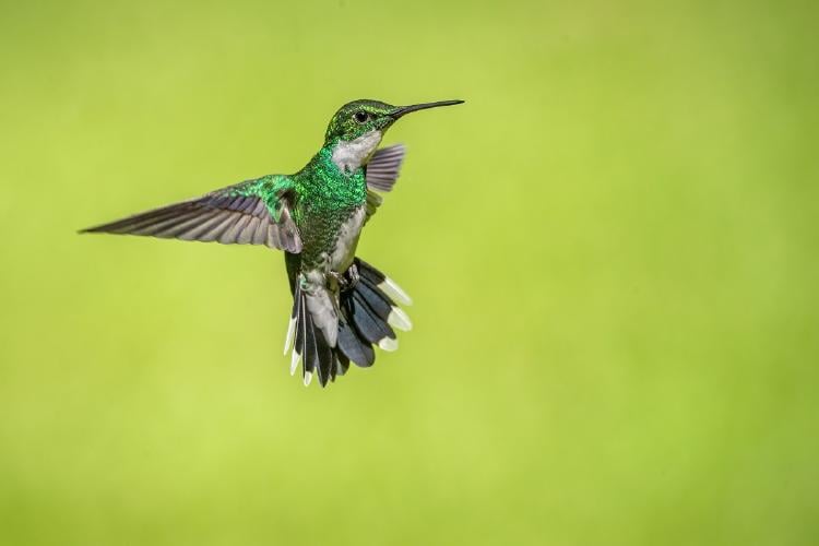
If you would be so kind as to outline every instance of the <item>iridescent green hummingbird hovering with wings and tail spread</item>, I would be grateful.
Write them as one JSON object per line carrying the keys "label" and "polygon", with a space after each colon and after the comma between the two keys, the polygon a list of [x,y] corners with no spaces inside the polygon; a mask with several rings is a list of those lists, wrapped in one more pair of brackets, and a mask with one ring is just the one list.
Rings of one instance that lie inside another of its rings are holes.
{"label": "iridescent green hummingbird hovering with wings and tail spread", "polygon": [[405,147],[379,149],[403,116],[463,100],[393,106],[358,99],[330,120],[324,144],[293,175],[266,175],[80,233],[141,235],[284,251],[293,308],[284,354],[305,385],[325,387],[349,369],[370,367],[375,346],[395,351],[395,330],[412,322],[410,296],[356,256],[361,228],[392,190]]}

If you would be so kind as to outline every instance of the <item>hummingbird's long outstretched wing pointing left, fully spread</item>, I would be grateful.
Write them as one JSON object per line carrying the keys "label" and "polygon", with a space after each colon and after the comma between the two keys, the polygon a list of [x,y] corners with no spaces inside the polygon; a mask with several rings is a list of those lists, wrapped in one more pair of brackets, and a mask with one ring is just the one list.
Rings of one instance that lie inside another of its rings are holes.
{"label": "hummingbird's long outstretched wing pointing left, fully spread", "polygon": [[288,177],[269,175],[81,233],[144,235],[301,251]]}

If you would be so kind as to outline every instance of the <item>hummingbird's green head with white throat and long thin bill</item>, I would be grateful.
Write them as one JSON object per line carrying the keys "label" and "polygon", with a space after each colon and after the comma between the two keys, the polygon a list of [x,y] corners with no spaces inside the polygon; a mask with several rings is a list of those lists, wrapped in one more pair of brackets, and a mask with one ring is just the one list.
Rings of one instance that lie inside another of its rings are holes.
{"label": "hummingbird's green head with white throat and long thin bill", "polygon": [[342,106],[327,128],[324,145],[333,150],[333,161],[346,170],[355,170],[372,155],[384,132],[411,111],[461,104],[441,100],[412,106],[393,106],[380,100],[359,99]]}

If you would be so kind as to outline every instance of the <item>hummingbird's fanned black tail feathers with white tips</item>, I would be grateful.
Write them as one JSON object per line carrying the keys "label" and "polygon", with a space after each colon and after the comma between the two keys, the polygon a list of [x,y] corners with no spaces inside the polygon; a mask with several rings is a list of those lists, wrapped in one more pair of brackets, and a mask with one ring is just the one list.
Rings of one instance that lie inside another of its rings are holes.
{"label": "hummingbird's fanned black tail feathers with white tips", "polygon": [[313,375],[324,387],[343,376],[353,363],[363,368],[376,361],[373,345],[384,351],[395,351],[399,342],[395,329],[408,331],[413,324],[399,304],[411,305],[410,296],[390,277],[360,258],[354,261],[358,271],[357,282],[339,295],[339,332],[334,345],[316,324],[308,310],[309,294],[296,282],[290,323],[284,345],[285,355],[290,356],[290,373],[301,363],[305,384],[310,384]]}

